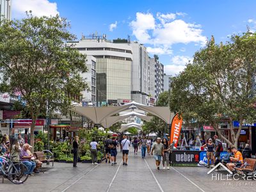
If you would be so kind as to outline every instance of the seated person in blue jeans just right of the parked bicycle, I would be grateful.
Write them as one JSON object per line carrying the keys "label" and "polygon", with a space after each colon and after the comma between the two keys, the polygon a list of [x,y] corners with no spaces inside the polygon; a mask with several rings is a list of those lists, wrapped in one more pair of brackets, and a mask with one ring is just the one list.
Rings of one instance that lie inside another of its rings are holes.
{"label": "seated person in blue jeans just right of the parked bicycle", "polygon": [[28,151],[29,151],[29,147],[30,145],[28,143],[25,143],[21,149],[20,152],[20,161],[22,164],[24,164],[28,170],[26,170],[25,174],[26,175],[33,175],[33,170],[35,169],[36,163],[31,161],[31,158],[33,156],[29,155]]}

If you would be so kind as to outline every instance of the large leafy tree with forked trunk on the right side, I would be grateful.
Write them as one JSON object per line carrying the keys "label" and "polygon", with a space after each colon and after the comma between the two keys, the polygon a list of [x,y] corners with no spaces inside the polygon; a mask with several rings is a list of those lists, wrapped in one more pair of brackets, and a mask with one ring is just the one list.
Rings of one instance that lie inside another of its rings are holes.
{"label": "large leafy tree with forked trunk on the right side", "polygon": [[[236,146],[243,121],[255,119],[256,34],[234,35],[230,42],[215,44],[214,38],[195,53],[193,63],[173,77],[170,108],[185,120],[211,124],[229,145]],[[230,122],[231,141],[218,127]],[[233,121],[239,120],[236,130]]]}

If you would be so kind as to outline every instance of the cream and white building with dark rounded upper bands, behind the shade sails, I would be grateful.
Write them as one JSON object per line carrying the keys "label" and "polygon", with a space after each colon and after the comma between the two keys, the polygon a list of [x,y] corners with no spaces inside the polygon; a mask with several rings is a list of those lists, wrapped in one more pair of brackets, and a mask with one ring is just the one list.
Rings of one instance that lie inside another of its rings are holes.
{"label": "cream and white building with dark rounded upper bands, behind the shade sails", "polygon": [[96,100],[99,105],[116,104],[118,99],[131,100],[132,48],[128,43],[117,42],[95,35],[72,42],[78,51],[96,58]]}

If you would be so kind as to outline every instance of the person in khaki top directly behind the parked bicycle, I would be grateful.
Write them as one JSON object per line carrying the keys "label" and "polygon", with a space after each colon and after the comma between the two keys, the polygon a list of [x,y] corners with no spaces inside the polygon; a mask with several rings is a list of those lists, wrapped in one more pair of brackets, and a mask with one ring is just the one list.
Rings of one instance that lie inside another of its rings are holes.
{"label": "person in khaki top directly behind the parked bicycle", "polygon": [[[11,148],[11,156],[12,156],[12,162],[15,166],[16,163],[19,163],[20,161],[20,151],[21,151],[21,147],[19,144],[19,141],[17,140],[17,138],[13,139],[13,145]],[[15,166],[17,168],[17,166]],[[15,169],[12,169],[12,173],[15,173]],[[17,179],[15,179],[15,174],[13,174],[12,176],[13,182],[16,184],[20,184],[21,180],[19,180],[19,177],[17,177]]]}

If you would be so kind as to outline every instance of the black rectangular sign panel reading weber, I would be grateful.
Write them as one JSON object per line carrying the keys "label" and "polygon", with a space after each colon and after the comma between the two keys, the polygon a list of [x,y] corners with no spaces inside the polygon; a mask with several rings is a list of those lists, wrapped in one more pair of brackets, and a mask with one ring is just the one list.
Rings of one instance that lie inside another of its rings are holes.
{"label": "black rectangular sign panel reading weber", "polygon": [[173,150],[172,163],[198,163],[199,153],[193,150]]}

